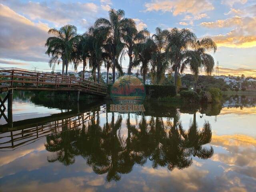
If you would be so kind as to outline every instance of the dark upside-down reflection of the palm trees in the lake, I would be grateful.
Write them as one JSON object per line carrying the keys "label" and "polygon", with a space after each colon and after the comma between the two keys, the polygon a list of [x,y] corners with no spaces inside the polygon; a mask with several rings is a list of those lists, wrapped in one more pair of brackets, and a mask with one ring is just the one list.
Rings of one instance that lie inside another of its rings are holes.
{"label": "dark upside-down reflection of the palm trees in the lake", "polygon": [[68,166],[75,162],[75,156],[82,156],[96,174],[106,174],[107,181],[118,181],[121,174],[131,172],[135,164],[142,166],[147,160],[152,162],[153,168],[166,166],[172,171],[189,167],[191,156],[210,158],[214,150],[204,146],[212,138],[210,124],[205,122],[199,130],[194,115],[188,131],[184,131],[178,110],[174,113],[166,123],[163,118],[152,116],[148,120],[136,120],[136,125],[130,123],[128,114],[127,137],[120,131],[122,116],[118,115],[115,120],[114,113],[110,123],[106,113],[103,127],[98,111],[92,112],[91,120],[82,124],[82,129],[75,125],[71,128],[64,120],[62,132],[47,136],[45,147],[52,152],[48,161]]}

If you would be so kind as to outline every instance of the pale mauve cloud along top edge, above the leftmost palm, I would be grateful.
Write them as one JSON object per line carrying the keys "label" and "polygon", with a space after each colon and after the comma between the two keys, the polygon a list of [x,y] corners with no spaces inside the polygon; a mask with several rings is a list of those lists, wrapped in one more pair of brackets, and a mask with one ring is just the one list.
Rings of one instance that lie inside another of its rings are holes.
{"label": "pale mauve cloud along top edge, above the leftmost palm", "polygon": [[99,7],[94,3],[81,2],[59,2],[53,1],[51,4],[47,2],[21,2],[8,1],[8,5],[16,12],[28,16],[31,20],[46,20],[52,22],[56,27],[64,24],[73,23],[81,17],[92,18],[97,17]]}

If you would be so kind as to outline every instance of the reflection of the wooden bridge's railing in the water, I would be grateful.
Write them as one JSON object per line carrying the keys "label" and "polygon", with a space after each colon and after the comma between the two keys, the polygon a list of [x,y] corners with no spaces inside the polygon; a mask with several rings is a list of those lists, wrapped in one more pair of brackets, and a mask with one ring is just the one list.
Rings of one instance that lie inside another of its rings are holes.
{"label": "reflection of the wooden bridge's railing in the water", "polygon": [[[106,112],[106,106],[101,107],[99,114]],[[93,114],[94,113],[94,114]],[[22,126],[18,130],[5,130],[0,133],[0,150],[12,148],[12,150],[24,146],[39,140],[52,133],[58,133],[63,131],[63,127],[68,127],[68,130],[74,128],[81,128],[82,125],[92,118],[95,118],[97,113],[92,110],[84,113],[80,113],[76,116],[67,117],[64,113],[64,118],[60,120],[54,120],[46,123],[28,124],[28,126]],[[32,126],[31,126],[32,125]],[[0,130],[1,131],[1,130]],[[1,142],[4,141],[4,142]]]}

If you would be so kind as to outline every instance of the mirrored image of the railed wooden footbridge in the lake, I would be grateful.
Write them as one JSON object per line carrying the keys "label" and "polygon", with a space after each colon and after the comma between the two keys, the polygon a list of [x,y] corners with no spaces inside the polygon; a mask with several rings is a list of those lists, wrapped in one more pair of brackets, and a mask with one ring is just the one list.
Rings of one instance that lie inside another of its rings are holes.
{"label": "mirrored image of the railed wooden footbridge in the lake", "polygon": [[[96,115],[95,111],[97,111]],[[21,120],[14,122],[11,128],[8,124],[0,126],[0,140],[4,141],[0,142],[0,150],[15,150],[50,134],[82,128],[83,124],[105,111],[106,106],[99,106],[82,113],[70,111],[48,117]]]}

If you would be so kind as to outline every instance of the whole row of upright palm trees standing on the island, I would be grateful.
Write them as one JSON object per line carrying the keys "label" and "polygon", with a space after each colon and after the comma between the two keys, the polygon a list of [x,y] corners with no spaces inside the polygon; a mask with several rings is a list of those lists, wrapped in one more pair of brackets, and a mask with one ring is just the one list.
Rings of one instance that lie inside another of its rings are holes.
{"label": "whole row of upright palm trees standing on the island", "polygon": [[[122,74],[122,59],[129,57],[128,74],[133,68],[138,68],[145,82],[146,74],[152,72],[155,84],[161,84],[167,70],[174,72],[174,84],[177,86],[178,73],[189,67],[195,76],[195,86],[200,69],[211,74],[214,59],[208,51],[217,49],[210,38],[198,40],[189,29],[173,28],[162,30],[156,28],[155,34],[150,36],[147,29],[138,31],[133,19],[125,18],[124,10],[109,11],[109,20],[98,18],[94,26],[82,35],[72,25],[65,25],[60,30],[50,29],[53,35],[46,41],[46,54],[51,56],[50,67],[62,61],[62,74],[68,64],[73,63],[77,69],[83,64],[83,74],[86,66],[92,70],[96,81],[100,82],[100,68],[102,64],[112,69],[114,83],[115,72]],[[108,81],[108,77],[107,77]]]}

